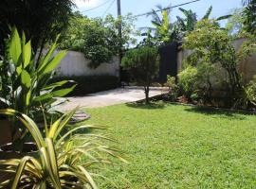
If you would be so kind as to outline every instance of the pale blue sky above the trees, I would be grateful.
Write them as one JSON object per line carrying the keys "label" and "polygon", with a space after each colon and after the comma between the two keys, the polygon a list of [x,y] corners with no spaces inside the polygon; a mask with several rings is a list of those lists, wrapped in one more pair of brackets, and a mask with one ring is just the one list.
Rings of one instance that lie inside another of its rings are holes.
{"label": "pale blue sky above the trees", "polygon": [[[134,15],[148,12],[154,9],[156,5],[162,7],[175,6],[192,0],[120,0],[121,11],[125,15],[133,13]],[[111,13],[117,16],[117,0],[75,0],[77,9],[82,11],[83,15],[88,17],[104,17]],[[103,4],[103,5],[102,5]],[[101,6],[102,5],[102,6]],[[101,6],[100,8],[98,8]],[[183,6],[183,9],[192,9],[200,19],[207,11],[213,7],[212,18],[229,14],[233,9],[242,8],[241,0],[201,0],[190,5]],[[173,9],[171,19],[174,21],[176,16],[182,16],[178,9]],[[151,17],[139,17],[136,21],[137,28],[143,26],[151,26]]]}

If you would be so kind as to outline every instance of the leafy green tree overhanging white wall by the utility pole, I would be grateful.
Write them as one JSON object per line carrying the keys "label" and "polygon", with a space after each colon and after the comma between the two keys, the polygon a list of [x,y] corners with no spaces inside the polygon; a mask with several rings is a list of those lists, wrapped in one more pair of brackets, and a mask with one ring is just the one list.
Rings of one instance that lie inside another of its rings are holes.
{"label": "leafy green tree overhanging white wall by the utility pole", "polygon": [[[129,17],[127,17],[129,18]],[[122,24],[122,38],[119,38],[118,26]],[[111,62],[123,46],[135,43],[132,36],[134,26],[132,19],[114,19],[108,15],[105,19],[89,19],[75,12],[70,17],[70,26],[64,32],[61,47],[80,51],[91,60],[90,67],[97,68],[103,62]]]}

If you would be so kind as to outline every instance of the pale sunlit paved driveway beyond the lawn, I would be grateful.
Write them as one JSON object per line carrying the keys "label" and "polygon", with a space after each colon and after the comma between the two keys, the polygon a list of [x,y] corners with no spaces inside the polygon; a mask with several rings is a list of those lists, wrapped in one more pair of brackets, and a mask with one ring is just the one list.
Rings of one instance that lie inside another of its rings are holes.
{"label": "pale sunlit paved driveway beyond the lawn", "polygon": [[[167,93],[167,88],[151,88],[150,96]],[[85,96],[68,97],[66,102],[58,108],[60,111],[70,111],[76,107],[98,108],[122,104],[127,102],[136,102],[145,98],[143,88],[126,87],[115,90],[105,91],[97,94],[87,94]]]}

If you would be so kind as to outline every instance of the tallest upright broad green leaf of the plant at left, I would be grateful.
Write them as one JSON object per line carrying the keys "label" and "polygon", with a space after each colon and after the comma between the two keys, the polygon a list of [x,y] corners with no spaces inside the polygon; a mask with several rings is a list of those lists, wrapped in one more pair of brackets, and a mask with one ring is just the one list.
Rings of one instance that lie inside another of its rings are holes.
{"label": "tallest upright broad green leaf of the plant at left", "polygon": [[18,64],[21,51],[21,39],[18,30],[16,27],[12,27],[9,43],[9,56],[15,64]]}

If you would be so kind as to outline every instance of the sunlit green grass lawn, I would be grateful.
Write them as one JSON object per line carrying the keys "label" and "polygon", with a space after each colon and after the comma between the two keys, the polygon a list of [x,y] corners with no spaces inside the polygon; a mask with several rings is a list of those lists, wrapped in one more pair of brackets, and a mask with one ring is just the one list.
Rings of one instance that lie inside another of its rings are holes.
{"label": "sunlit green grass lawn", "polygon": [[256,116],[186,106],[86,110],[110,127],[129,164],[110,167],[101,188],[256,188]]}

